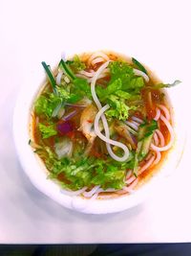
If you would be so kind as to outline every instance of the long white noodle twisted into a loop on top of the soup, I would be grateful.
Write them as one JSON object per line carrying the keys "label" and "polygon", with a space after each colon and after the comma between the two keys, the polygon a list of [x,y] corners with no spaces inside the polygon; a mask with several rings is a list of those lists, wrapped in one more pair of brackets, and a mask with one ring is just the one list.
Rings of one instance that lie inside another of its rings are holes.
{"label": "long white noodle twisted into a loop on top of the soup", "polygon": [[[129,157],[129,150],[128,148],[120,143],[120,142],[117,142],[117,141],[114,141],[114,140],[111,140],[110,139],[110,131],[109,131],[109,127],[108,127],[108,123],[107,123],[107,119],[104,115],[104,112],[110,107],[109,105],[105,105],[104,107],[102,107],[102,105],[100,104],[97,96],[96,96],[96,89],[95,89],[95,86],[96,86],[96,80],[98,78],[98,76],[102,73],[102,71],[107,68],[108,64],[109,64],[110,61],[107,61],[105,62],[104,64],[102,64],[96,71],[96,74],[93,78],[93,81],[91,82],[91,92],[92,92],[92,96],[93,96],[93,99],[96,103],[96,106],[97,108],[99,109],[98,113],[96,114],[96,119],[95,119],[95,132],[96,132],[96,135],[102,139],[103,141],[106,142],[106,147],[107,147],[107,150],[109,152],[109,154],[111,155],[112,158],[114,158],[115,160],[117,161],[125,161],[127,160],[127,158]],[[105,130],[105,136],[100,132],[100,129],[99,129],[99,126],[98,126],[98,123],[99,123],[99,119],[101,118],[102,120],[102,123],[103,123],[103,128]],[[117,156],[117,154],[115,154],[112,149],[111,149],[111,145],[115,145],[119,148],[121,148],[123,151],[124,151],[124,155],[122,157],[119,157]]]}

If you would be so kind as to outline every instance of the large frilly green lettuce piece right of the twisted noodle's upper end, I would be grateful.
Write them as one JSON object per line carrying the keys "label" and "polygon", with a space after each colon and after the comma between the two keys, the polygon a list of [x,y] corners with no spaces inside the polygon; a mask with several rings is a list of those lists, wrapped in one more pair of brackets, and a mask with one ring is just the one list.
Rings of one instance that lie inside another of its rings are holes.
{"label": "large frilly green lettuce piece right of the twisted noodle's upper end", "polygon": [[106,112],[108,117],[125,120],[130,109],[137,109],[136,105],[128,106],[128,101],[140,99],[144,81],[141,77],[135,76],[133,68],[126,62],[113,61],[109,68],[111,81],[106,88],[96,86],[96,93],[101,103],[109,103],[111,106]]}

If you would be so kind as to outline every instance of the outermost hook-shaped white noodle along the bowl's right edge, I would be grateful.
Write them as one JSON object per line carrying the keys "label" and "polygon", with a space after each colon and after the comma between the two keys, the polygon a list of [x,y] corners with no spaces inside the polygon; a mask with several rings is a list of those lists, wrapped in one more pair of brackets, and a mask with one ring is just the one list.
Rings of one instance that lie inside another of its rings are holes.
{"label": "outermost hook-shaped white noodle along the bowl's right edge", "polygon": [[152,143],[151,144],[151,149],[154,150],[154,151],[168,151],[174,143],[175,135],[174,135],[174,131],[173,131],[173,128],[172,128],[171,124],[169,123],[169,121],[162,114],[160,114],[160,119],[165,124],[165,126],[168,128],[168,130],[170,132],[170,141],[164,147],[157,147]]}

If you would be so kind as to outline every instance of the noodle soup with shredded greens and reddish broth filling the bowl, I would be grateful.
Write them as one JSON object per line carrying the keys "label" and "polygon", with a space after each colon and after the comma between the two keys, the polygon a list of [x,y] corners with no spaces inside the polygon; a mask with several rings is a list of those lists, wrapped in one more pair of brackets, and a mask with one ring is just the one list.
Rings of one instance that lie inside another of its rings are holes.
{"label": "noodle soup with shredded greens and reddish broth filling the bowl", "polygon": [[116,198],[159,170],[174,143],[162,83],[136,58],[96,52],[61,59],[32,105],[31,141],[62,193]]}

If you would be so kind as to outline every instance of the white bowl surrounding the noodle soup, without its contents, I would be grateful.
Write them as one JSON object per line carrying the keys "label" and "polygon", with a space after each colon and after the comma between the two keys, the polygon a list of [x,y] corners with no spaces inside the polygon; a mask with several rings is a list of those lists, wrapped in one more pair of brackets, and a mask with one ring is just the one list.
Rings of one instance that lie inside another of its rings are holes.
{"label": "white bowl surrounding the noodle soup, without its contents", "polygon": [[[52,64],[57,63],[57,60]],[[152,69],[152,67],[150,68]],[[18,157],[25,173],[31,179],[32,184],[48,197],[53,198],[53,200],[65,207],[87,214],[116,213],[137,205],[152,191],[159,189],[162,179],[166,175],[169,175],[169,173],[173,173],[176,169],[182,154],[185,134],[183,132],[181,119],[182,106],[178,105],[180,103],[179,86],[168,90],[168,95],[174,108],[176,143],[173,150],[169,152],[167,160],[156,175],[138,188],[134,194],[119,198],[88,200],[64,195],[60,187],[54,183],[53,180],[47,179],[47,173],[42,163],[40,163],[35,153],[32,151],[32,147],[29,145],[29,124],[32,102],[43,84],[43,81],[45,81],[45,74],[39,63],[39,66],[35,67],[35,72],[31,74],[29,72],[27,75],[27,80],[20,92],[14,111],[14,141]],[[160,79],[162,80],[162,78]]]}

